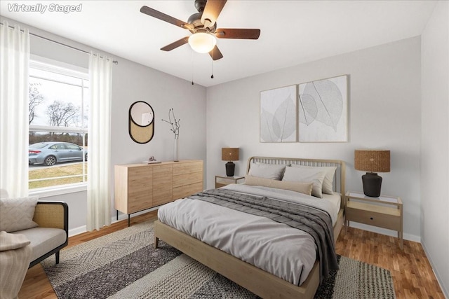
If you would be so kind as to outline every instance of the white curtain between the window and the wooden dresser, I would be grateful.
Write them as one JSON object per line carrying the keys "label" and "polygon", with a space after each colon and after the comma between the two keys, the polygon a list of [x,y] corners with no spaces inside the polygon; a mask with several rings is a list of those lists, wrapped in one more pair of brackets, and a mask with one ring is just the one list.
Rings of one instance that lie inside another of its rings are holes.
{"label": "white curtain between the window and the wooden dresser", "polygon": [[110,153],[112,59],[91,53],[89,57],[87,230],[111,224]]}

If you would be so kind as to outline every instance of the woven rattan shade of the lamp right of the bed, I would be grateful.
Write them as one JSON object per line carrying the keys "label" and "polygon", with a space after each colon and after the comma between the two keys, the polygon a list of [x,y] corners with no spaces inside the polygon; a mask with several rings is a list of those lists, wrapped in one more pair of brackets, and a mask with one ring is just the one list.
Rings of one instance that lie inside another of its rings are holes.
{"label": "woven rattan shade of the lamp right of the bed", "polygon": [[390,172],[390,151],[356,150],[354,167],[363,172]]}

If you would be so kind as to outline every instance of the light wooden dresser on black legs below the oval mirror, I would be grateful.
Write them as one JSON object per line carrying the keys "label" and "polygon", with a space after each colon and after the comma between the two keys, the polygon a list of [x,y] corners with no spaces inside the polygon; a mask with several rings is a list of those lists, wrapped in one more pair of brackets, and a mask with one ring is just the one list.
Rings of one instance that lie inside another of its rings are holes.
{"label": "light wooden dresser on black legs below the oval mirror", "polygon": [[203,190],[203,161],[114,166],[114,208],[128,214],[187,197]]}

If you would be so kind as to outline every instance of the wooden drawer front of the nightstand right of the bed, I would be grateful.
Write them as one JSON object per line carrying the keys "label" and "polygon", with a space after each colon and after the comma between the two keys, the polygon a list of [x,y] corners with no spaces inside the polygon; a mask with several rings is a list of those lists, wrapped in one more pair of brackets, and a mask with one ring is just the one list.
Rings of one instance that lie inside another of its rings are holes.
{"label": "wooden drawer front of the nightstand right of the bed", "polygon": [[374,225],[379,228],[387,228],[389,230],[401,230],[401,217],[376,213],[375,211],[365,211],[362,209],[347,207],[346,220]]}

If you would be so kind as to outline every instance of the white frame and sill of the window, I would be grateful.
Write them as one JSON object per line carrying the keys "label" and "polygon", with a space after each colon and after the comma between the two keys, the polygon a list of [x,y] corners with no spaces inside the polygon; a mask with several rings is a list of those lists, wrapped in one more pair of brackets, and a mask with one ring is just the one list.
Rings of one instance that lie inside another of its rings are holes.
{"label": "white frame and sill of the window", "polygon": [[[30,55],[29,67],[34,69],[41,69],[45,71],[51,71],[54,73],[72,76],[76,78],[89,79],[88,69],[83,67],[77,67],[72,64],[51,60],[46,57],[40,57],[37,55]],[[88,134],[88,127],[51,127],[43,125],[29,125],[29,131],[36,132],[65,132],[65,133],[82,133]],[[83,137],[83,143],[85,140]],[[83,173],[84,171],[83,165]],[[29,195],[39,195],[39,197],[50,197],[56,195],[64,195],[68,193],[83,192],[87,190],[87,181],[82,183],[72,183],[60,186],[51,186],[44,188],[29,189]]]}

